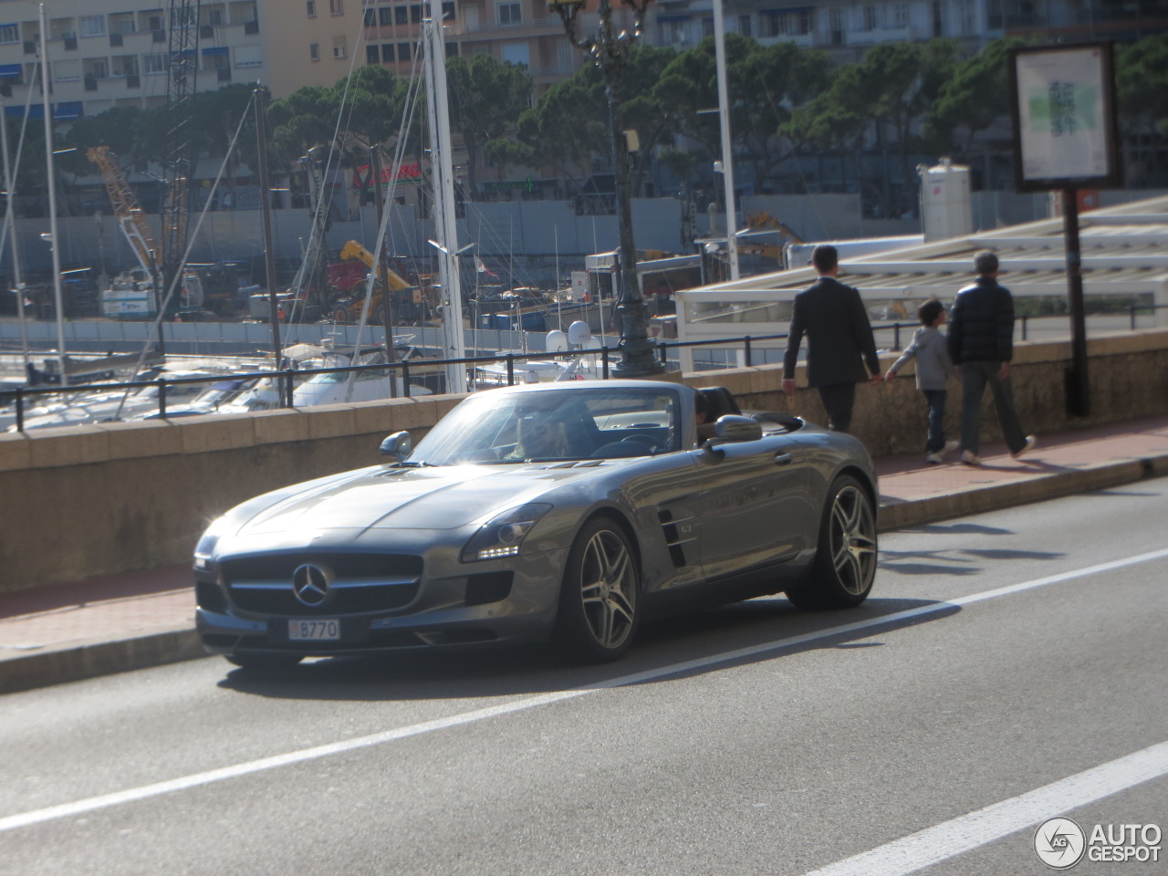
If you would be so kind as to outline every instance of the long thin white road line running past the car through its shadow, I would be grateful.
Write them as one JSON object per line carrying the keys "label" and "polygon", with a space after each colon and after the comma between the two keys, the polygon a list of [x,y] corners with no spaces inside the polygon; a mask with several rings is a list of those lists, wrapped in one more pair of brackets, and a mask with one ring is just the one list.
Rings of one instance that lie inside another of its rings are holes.
{"label": "long thin white road line running past the car through its shadow", "polygon": [[883,614],[878,618],[867,618],[864,620],[857,620],[851,624],[841,624],[839,626],[828,627],[827,630],[820,630],[814,633],[792,635],[785,639],[777,639],[774,641],[764,642],[762,645],[753,645],[749,648],[737,648],[735,651],[725,651],[722,652],[721,654],[711,654],[709,656],[697,658],[695,660],[686,660],[680,663],[670,663],[669,666],[662,666],[656,669],[647,669],[641,673],[633,673],[632,675],[621,675],[619,677],[609,679],[607,681],[596,682],[593,684],[589,684],[588,687],[583,688],[573,688],[571,690],[555,690],[547,694],[537,694],[535,696],[524,696],[520,697],[519,700],[513,700],[508,703],[500,703],[499,705],[492,705],[486,709],[464,711],[457,715],[450,715],[444,718],[434,718],[433,721],[424,721],[419,724],[410,724],[409,726],[397,728],[396,730],[387,730],[385,732],[381,734],[362,736],[356,739],[334,742],[327,745],[315,745],[310,749],[300,749],[298,751],[290,751],[284,755],[274,755],[272,757],[265,757],[258,760],[249,760],[243,764],[224,766],[218,770],[208,770],[206,772],[194,773],[192,776],[183,776],[178,779],[169,779],[167,781],[157,781],[151,785],[141,785],[139,787],[126,788],[125,791],[117,791],[111,794],[100,794],[99,797],[90,797],[84,800],[75,800],[74,802],[61,804],[58,806],[48,806],[42,809],[33,809],[32,812],[22,812],[15,815],[7,815],[5,818],[0,818],[0,833],[5,833],[7,830],[15,830],[18,828],[28,827],[30,825],[43,823],[46,821],[54,821],[56,819],[71,818],[74,815],[81,815],[86,812],[95,812],[97,809],[104,809],[111,806],[120,806],[123,804],[137,802],[138,800],[146,800],[152,797],[169,794],[176,791],[186,791],[188,788],[199,787],[200,785],[210,785],[216,781],[234,779],[241,776],[249,776],[251,773],[262,772],[264,770],[272,770],[279,766],[301,764],[307,760],[315,760],[318,758],[329,757],[332,755],[341,755],[348,751],[356,751],[359,749],[368,749],[375,745],[383,745],[388,742],[394,742],[396,739],[405,739],[411,736],[420,736],[423,734],[433,732],[436,730],[445,730],[452,726],[473,724],[479,721],[498,717],[500,715],[509,715],[517,711],[535,709],[541,705],[550,705],[551,703],[557,703],[564,700],[572,700],[578,696],[584,696],[585,694],[593,694],[598,690],[609,690],[611,688],[619,688],[628,684],[639,684],[645,681],[653,681],[655,679],[691,672],[694,669],[705,669],[710,666],[716,666],[718,663],[726,663],[726,662],[732,662],[735,660],[743,660],[745,658],[752,658],[773,651],[781,651],[784,648],[790,648],[799,645],[805,645],[807,642],[819,641],[820,639],[830,639],[836,635],[862,632],[864,630],[871,630],[872,627],[885,626],[888,624],[896,624],[901,620],[910,620],[912,618],[919,618],[926,614],[937,614],[940,612],[950,611],[954,606],[969,605],[972,603],[985,602],[987,599],[996,599],[999,597],[1010,596],[1013,593],[1018,593],[1024,590],[1034,590],[1035,588],[1042,588],[1049,584],[1059,584],[1063,582],[1073,580],[1076,578],[1083,578],[1090,575],[1098,575],[1100,572],[1113,571],[1115,569],[1121,569],[1124,566],[1135,565],[1138,563],[1147,563],[1153,559],[1161,559],[1163,557],[1168,557],[1168,548],[1163,550],[1154,550],[1148,554],[1140,554],[1134,557],[1127,557],[1126,559],[1117,559],[1111,563],[1100,563],[1099,565],[1091,565],[1084,569],[1076,569],[1069,572],[1062,572],[1061,575],[1051,575],[1045,578],[1035,578],[1034,580],[1022,582],[1021,584],[1010,584],[1004,588],[985,590],[980,593],[972,593],[969,596],[959,597],[957,599],[950,599],[943,603],[922,605],[916,609],[908,609],[905,611],[894,612],[892,614]]}

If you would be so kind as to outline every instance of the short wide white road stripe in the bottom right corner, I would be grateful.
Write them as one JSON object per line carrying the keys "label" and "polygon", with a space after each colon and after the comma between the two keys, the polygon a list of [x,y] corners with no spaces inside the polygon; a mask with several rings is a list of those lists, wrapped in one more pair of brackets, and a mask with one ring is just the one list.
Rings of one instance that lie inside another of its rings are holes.
{"label": "short wide white road stripe in the bottom right corner", "polygon": [[905,876],[1166,773],[1168,742],[1162,742],[806,876]]}

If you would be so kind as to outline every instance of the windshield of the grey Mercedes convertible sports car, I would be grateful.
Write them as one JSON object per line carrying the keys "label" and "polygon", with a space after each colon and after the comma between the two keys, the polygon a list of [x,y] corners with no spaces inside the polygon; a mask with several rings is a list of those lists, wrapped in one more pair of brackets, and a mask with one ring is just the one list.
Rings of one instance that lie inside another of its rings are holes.
{"label": "windshield of the grey Mercedes convertible sports car", "polygon": [[667,388],[491,390],[446,415],[409,461],[426,465],[616,459],[681,446],[677,394]]}

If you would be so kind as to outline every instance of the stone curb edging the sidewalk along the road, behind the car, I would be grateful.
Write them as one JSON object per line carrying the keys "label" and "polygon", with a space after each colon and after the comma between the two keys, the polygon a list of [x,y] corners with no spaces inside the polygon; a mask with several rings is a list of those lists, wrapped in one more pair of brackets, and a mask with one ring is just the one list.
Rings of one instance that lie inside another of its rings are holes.
{"label": "stone curb edging the sidewalk along the road, behind the car", "polygon": [[[1168,454],[1101,463],[1021,478],[946,495],[881,505],[877,529],[888,533],[922,523],[1058,499],[1076,493],[1168,475]],[[209,656],[194,627],[178,626],[121,640],[93,639],[50,651],[0,659],[0,694],[30,690],[130,669]]]}

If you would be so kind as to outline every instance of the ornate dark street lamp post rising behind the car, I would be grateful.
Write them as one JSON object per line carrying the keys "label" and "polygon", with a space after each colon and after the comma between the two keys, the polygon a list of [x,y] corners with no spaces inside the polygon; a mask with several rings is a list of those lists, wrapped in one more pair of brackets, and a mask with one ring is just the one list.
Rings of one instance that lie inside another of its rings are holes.
{"label": "ornate dark street lamp post rising behind the car", "polygon": [[633,207],[628,180],[628,147],[625,132],[620,127],[620,79],[625,71],[628,53],[641,34],[645,9],[651,0],[621,0],[633,9],[633,30],[616,33],[612,25],[610,0],[599,0],[597,14],[600,27],[596,37],[580,37],[576,29],[576,16],[586,0],[548,0],[548,8],[555,9],[564,22],[564,30],[571,42],[584,49],[604,76],[604,93],[609,104],[609,134],[611,137],[612,167],[617,188],[617,225],[620,231],[620,293],[617,313],[620,315],[620,362],[613,368],[617,377],[646,377],[665,369],[653,355],[648,338],[648,308],[637,281],[637,245],[633,243]]}

